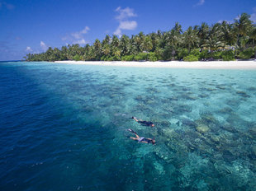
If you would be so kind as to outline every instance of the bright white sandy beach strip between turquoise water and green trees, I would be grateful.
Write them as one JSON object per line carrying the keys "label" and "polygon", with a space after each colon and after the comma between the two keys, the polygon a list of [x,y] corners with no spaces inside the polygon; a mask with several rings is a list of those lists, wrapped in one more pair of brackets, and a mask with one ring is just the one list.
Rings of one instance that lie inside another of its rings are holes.
{"label": "bright white sandy beach strip between turquoise water and green trees", "polygon": [[246,69],[256,70],[256,61],[210,61],[210,62],[103,62],[103,61],[55,61],[55,63],[72,63],[101,66],[142,67],[142,68],[202,68],[202,69]]}

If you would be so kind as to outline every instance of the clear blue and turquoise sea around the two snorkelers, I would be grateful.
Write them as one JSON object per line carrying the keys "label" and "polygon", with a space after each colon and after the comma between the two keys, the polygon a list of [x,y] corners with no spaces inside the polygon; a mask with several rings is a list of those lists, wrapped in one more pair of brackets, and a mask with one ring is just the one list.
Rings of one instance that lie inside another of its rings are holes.
{"label": "clear blue and turquoise sea around the two snorkelers", "polygon": [[0,190],[254,191],[256,70],[1,62]]}

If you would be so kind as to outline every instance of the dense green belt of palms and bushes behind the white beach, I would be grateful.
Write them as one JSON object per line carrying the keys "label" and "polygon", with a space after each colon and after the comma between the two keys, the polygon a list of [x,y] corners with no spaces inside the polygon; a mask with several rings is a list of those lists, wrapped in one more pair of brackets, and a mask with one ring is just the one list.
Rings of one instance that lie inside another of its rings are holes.
{"label": "dense green belt of palms and bushes behind the white beach", "polygon": [[212,26],[190,26],[183,31],[175,24],[172,30],[144,35],[107,35],[102,42],[49,48],[42,54],[27,54],[27,61],[56,60],[234,60],[256,58],[256,26],[250,16],[243,13],[234,23],[222,21]]}

